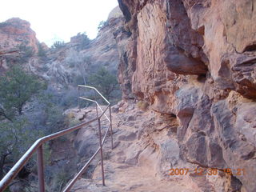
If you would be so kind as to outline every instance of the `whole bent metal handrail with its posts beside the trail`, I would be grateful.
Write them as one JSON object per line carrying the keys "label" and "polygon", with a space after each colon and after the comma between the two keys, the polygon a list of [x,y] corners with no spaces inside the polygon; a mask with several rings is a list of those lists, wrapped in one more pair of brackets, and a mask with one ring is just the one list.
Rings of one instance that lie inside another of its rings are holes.
{"label": "whole bent metal handrail with its posts beside the trail", "polygon": [[[80,87],[83,88],[89,88],[94,90],[94,95],[95,95],[95,100],[89,99],[89,98],[83,98],[80,97],[80,92],[79,89]],[[98,102],[96,101],[96,93],[98,93],[107,103],[108,105],[106,106],[105,110],[102,110],[101,106],[98,105]],[[101,164],[102,164],[102,185],[105,186],[105,177],[104,177],[104,168],[103,168],[103,154],[102,154],[102,146],[106,140],[106,135],[108,134],[110,130],[110,135],[111,135],[111,147],[113,149],[113,131],[112,131],[112,117],[111,117],[111,107],[110,107],[110,102],[104,98],[104,96],[93,86],[78,86],[78,99],[85,99],[90,102],[95,102],[96,103],[96,112],[97,112],[97,118],[94,118],[88,122],[82,122],[77,126],[72,126],[66,130],[61,130],[58,131],[57,133],[47,135],[42,138],[38,138],[36,142],[32,146],[30,146],[30,149],[26,151],[25,154],[22,155],[22,158],[18,160],[18,162],[15,163],[15,165],[11,168],[11,170],[5,175],[4,178],[0,181],[0,192],[6,189],[7,186],[9,186],[10,182],[16,177],[18,172],[22,170],[22,167],[25,166],[26,162],[30,160],[32,155],[37,151],[38,154],[38,183],[39,183],[39,191],[40,192],[45,192],[45,182],[44,182],[44,171],[43,171],[43,153],[42,153],[42,145],[45,142],[48,142],[54,138],[59,138],[65,134],[69,134],[73,132],[74,130],[81,129],[83,126],[89,125],[91,122],[98,121],[98,132],[99,132],[99,147],[98,150],[92,155],[92,157],[89,159],[88,162],[86,162],[86,165],[82,167],[82,170],[78,172],[78,174],[75,175],[75,177],[68,183],[66,188],[63,190],[63,192],[68,192],[71,187],[74,185],[74,183],[82,176],[86,168],[89,166],[90,162],[95,158],[95,156],[98,154],[98,152],[101,152]],[[80,102],[79,103],[79,109],[80,109]],[[98,115],[98,107],[102,111],[102,114]],[[106,116],[106,110],[110,110],[110,118],[107,118]],[[106,130],[106,133],[102,139],[102,133],[101,133],[101,118],[102,116],[105,116],[108,122],[110,122],[110,126]]]}

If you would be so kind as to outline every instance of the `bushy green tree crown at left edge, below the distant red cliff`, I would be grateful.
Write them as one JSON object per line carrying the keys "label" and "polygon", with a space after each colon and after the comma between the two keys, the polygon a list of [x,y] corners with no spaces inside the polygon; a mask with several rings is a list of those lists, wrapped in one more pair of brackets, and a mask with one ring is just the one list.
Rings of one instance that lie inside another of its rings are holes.
{"label": "bushy green tree crown at left edge, below the distant red cliff", "polygon": [[34,75],[27,74],[19,66],[14,66],[0,77],[0,117],[12,121],[16,114],[22,114],[22,108],[46,86]]}

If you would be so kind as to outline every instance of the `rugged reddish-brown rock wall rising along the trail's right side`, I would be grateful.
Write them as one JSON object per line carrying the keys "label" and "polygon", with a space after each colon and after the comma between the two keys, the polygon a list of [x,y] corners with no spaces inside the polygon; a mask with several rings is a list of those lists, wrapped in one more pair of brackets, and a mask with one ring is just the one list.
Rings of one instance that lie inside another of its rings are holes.
{"label": "rugged reddish-brown rock wall rising along the trail's right side", "polygon": [[[118,2],[126,19],[114,33],[123,98],[175,117],[181,161],[231,168],[226,191],[255,191],[255,1]],[[215,178],[190,177],[219,191]]]}

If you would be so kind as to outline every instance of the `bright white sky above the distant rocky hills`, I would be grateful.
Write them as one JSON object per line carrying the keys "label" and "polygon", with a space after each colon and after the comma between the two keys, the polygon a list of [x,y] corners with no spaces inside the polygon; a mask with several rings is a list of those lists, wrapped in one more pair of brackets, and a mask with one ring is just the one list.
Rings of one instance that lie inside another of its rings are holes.
{"label": "bright white sky above the distant rocky hills", "polygon": [[118,6],[118,0],[6,0],[1,2],[0,22],[22,18],[31,24],[39,42],[51,46],[55,41],[86,32],[96,38],[98,24]]}

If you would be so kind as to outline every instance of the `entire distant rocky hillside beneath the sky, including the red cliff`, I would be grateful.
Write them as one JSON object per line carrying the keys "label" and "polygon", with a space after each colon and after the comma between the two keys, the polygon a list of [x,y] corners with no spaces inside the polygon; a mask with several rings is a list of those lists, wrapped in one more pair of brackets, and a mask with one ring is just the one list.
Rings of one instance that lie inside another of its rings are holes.
{"label": "entire distant rocky hillside beneath the sky, including the red cliff", "polygon": [[[38,42],[29,22],[11,18],[0,23],[0,72],[8,70],[8,58],[18,58],[22,55],[19,46],[26,45],[34,51],[22,67],[58,89],[83,84],[82,76],[94,73],[101,66],[117,74],[119,55],[113,33],[118,26],[123,26],[123,16],[116,7],[99,29],[97,38],[90,40],[85,34],[78,33],[70,38],[70,42],[53,49]],[[38,52],[39,48],[43,49],[43,55]]]}

